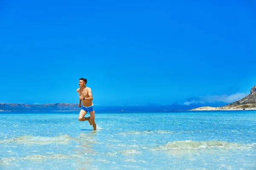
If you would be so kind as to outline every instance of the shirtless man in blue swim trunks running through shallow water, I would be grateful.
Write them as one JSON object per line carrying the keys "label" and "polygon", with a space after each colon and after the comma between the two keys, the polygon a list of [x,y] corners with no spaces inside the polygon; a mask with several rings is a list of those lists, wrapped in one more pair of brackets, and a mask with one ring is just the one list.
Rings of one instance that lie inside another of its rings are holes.
{"label": "shirtless man in blue swim trunks running through shallow water", "polygon": [[[80,78],[79,79],[79,87],[76,91],[79,94],[79,108],[81,108],[81,102],[83,103],[82,109],[79,113],[79,121],[88,120],[90,125],[93,125],[93,130],[96,130],[96,123],[94,120],[95,111],[93,106],[93,94],[91,88],[86,87],[87,79]],[[89,111],[90,116],[84,117],[86,113]]]}

